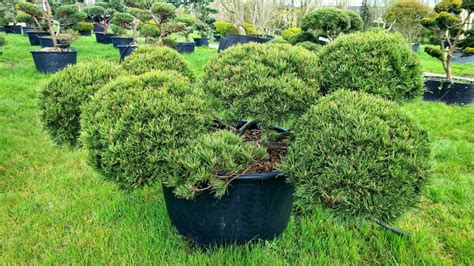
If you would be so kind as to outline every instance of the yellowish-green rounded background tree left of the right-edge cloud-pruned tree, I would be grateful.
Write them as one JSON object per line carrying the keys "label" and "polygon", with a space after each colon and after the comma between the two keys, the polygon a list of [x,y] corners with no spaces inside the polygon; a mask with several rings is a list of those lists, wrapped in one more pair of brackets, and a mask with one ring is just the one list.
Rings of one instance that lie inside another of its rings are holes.
{"label": "yellowish-green rounded background tree left of the right-edge cloud-pruned tree", "polygon": [[407,41],[417,42],[423,26],[421,19],[429,13],[429,6],[419,0],[399,0],[385,11],[384,19],[394,31],[400,32]]}

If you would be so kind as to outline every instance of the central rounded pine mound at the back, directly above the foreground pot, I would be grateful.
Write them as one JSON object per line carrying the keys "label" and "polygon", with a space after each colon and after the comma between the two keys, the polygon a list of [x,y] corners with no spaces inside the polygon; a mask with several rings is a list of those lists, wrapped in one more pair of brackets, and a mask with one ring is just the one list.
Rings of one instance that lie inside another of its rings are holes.
{"label": "central rounded pine mound at the back, directly above the foreground pot", "polygon": [[204,89],[224,119],[281,124],[318,98],[314,53],[285,44],[245,44],[211,59]]}

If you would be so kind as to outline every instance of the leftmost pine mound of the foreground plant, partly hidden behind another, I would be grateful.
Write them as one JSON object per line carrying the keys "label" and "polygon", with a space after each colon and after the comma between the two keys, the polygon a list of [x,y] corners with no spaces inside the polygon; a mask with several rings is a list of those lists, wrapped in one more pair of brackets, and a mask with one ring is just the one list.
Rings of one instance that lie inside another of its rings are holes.
{"label": "leftmost pine mound of the foreground plant, partly hidden behind another", "polygon": [[125,74],[118,65],[103,60],[68,66],[54,74],[39,99],[41,121],[52,139],[60,145],[76,145],[82,105],[100,87]]}

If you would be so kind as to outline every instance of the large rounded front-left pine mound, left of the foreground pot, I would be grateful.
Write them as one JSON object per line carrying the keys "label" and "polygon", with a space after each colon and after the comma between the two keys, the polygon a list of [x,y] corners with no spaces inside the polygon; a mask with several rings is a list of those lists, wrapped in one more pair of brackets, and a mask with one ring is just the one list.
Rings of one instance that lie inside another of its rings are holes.
{"label": "large rounded front-left pine mound, left of the foreground pot", "polygon": [[203,93],[174,71],[120,78],[85,108],[82,140],[89,162],[123,189],[167,176],[173,151],[207,131]]}

